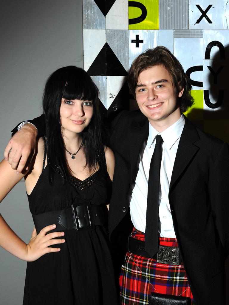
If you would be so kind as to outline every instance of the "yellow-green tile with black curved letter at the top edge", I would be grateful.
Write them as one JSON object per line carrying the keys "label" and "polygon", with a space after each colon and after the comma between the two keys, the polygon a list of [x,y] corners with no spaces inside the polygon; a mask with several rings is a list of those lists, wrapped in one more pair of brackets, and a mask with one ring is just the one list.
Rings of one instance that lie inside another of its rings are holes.
{"label": "yellow-green tile with black curved letter at the top edge", "polygon": [[[159,29],[159,0],[132,0],[143,4],[147,10],[145,20],[136,24],[129,24],[129,30],[158,30]],[[141,9],[129,6],[129,19],[141,16]]]}

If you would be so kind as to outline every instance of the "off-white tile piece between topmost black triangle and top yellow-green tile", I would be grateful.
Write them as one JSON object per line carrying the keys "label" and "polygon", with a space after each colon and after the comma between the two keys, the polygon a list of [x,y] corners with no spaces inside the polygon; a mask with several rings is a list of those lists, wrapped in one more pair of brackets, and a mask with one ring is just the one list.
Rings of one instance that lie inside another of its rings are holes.
{"label": "off-white tile piece between topmost black triangle and top yellow-green tile", "polygon": [[107,30],[128,30],[128,1],[116,0],[106,16]]}

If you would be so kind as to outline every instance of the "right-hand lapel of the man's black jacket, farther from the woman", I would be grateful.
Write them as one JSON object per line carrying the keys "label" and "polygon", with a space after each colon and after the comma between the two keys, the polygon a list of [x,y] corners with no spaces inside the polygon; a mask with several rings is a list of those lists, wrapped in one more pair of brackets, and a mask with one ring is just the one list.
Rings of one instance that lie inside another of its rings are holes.
{"label": "right-hand lapel of the man's black jacket, farther from the woman", "polygon": [[190,163],[193,156],[199,150],[199,147],[194,144],[198,140],[199,135],[196,127],[188,119],[185,118],[184,129],[182,131],[176,152],[169,191],[171,191],[176,180],[180,177],[184,169]]}

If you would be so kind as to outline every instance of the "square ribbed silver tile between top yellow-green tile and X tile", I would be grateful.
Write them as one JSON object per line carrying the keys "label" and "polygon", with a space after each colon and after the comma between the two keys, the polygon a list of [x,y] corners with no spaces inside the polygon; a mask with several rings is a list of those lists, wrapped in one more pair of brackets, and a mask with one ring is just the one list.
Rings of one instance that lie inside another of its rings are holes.
{"label": "square ribbed silver tile between top yellow-green tile and X tile", "polygon": [[188,0],[159,1],[159,29],[188,29]]}

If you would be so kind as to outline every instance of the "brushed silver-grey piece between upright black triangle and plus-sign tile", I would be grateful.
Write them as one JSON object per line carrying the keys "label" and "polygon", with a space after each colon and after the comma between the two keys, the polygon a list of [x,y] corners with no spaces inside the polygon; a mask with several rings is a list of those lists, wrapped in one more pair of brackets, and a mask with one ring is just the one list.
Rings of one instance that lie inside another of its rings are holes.
{"label": "brushed silver-grey piece between upright black triangle and plus-sign tile", "polygon": [[106,30],[106,41],[126,71],[129,61],[128,39],[128,30]]}

